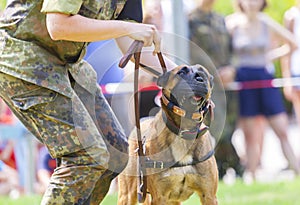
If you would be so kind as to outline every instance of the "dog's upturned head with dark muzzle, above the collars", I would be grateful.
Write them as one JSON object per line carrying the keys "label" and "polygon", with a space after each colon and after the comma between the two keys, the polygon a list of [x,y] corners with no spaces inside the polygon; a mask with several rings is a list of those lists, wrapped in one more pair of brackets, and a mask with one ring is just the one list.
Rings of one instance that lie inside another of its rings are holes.
{"label": "dog's upturned head with dark muzzle, above the collars", "polygon": [[210,100],[213,76],[201,65],[182,65],[161,75],[157,85],[175,106],[187,113],[201,112]]}

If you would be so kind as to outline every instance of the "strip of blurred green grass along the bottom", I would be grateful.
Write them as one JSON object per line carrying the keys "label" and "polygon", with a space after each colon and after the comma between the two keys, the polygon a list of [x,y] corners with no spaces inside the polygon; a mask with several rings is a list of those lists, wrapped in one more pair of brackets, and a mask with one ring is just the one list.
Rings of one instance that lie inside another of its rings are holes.
{"label": "strip of blurred green grass along the bottom", "polygon": [[[220,182],[218,189],[219,205],[299,205],[300,177],[291,181],[274,183],[254,183],[245,185],[237,181],[234,185]],[[38,205],[40,196],[24,196],[19,199],[0,197],[1,205]],[[115,205],[117,194],[109,195],[102,205]],[[199,204],[199,199],[193,195],[183,205]]]}

